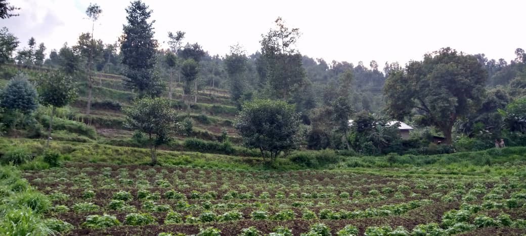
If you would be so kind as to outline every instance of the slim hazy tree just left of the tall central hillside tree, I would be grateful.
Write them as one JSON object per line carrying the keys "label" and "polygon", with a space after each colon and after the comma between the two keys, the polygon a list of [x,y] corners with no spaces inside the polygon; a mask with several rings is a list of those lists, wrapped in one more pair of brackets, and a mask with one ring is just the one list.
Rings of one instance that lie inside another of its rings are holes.
{"label": "slim hazy tree just left of the tall central hillside tree", "polygon": [[245,72],[248,58],[241,46],[230,46],[230,55],[224,59],[230,81],[230,98],[238,101],[245,90]]}

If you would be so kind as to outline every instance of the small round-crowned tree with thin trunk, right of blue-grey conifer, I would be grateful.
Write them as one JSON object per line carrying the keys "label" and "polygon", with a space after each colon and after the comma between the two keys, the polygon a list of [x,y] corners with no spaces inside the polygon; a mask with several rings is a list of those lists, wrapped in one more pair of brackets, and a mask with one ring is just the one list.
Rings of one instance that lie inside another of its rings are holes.
{"label": "small round-crowned tree with thin trunk, right of blue-grey conifer", "polygon": [[75,100],[77,88],[71,76],[67,76],[58,71],[50,71],[42,74],[37,84],[40,102],[42,105],[52,107],[51,115],[49,116],[48,138],[46,141],[46,147],[48,147],[55,111],[57,108],[62,108]]}

